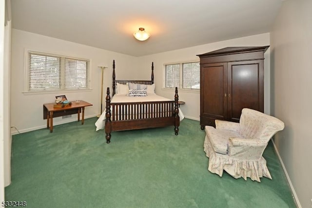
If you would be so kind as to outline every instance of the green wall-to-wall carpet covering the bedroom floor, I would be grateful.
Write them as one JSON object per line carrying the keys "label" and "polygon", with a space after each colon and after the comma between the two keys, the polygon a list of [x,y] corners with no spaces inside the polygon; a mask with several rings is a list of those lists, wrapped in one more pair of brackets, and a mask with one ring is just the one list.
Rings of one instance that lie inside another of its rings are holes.
{"label": "green wall-to-wall carpet covering the bedroom floor", "polygon": [[97,118],[14,135],[12,183],[5,200],[28,208],[295,208],[274,152],[273,180],[219,177],[207,170],[205,132],[184,119],[173,126],[113,132],[106,144]]}

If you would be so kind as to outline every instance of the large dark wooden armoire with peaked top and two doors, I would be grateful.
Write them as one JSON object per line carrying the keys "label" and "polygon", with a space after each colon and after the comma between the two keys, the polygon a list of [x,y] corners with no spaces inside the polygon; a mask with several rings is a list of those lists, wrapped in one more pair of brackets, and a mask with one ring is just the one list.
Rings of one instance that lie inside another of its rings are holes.
{"label": "large dark wooden armoire with peaked top and two doors", "polygon": [[243,108],[263,112],[264,52],[269,46],[226,47],[200,58],[200,125],[239,122]]}

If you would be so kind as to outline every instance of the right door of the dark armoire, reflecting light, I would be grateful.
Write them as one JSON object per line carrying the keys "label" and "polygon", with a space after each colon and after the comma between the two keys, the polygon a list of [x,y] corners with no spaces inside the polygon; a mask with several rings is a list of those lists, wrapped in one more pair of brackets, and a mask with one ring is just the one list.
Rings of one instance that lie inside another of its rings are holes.
{"label": "right door of the dark armoire, reflecting light", "polygon": [[228,121],[245,107],[263,112],[263,76],[263,60],[228,62]]}

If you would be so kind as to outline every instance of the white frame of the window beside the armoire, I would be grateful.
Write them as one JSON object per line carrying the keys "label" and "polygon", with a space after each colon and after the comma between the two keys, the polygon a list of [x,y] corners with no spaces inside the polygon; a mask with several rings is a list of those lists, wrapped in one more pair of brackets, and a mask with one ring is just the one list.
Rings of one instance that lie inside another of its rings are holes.
{"label": "white frame of the window beside the armoire", "polygon": [[[169,62],[169,63],[164,63],[163,64],[163,90],[172,90],[175,87],[167,87],[167,65],[174,65],[174,64],[179,64],[179,86],[178,89],[180,91],[186,91],[186,92],[200,92],[200,87],[199,88],[184,88],[183,87],[183,64],[185,63],[199,63],[200,60],[192,60],[192,61],[183,61],[183,62]],[[199,65],[199,73],[200,73],[200,65]],[[199,77],[199,82],[200,82],[200,77]]]}

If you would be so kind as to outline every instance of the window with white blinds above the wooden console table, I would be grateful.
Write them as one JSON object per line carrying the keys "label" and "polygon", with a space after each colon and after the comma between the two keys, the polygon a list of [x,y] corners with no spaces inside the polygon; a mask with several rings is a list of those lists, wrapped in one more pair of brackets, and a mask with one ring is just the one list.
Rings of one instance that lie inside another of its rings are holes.
{"label": "window with white blinds above the wooden console table", "polygon": [[28,52],[27,91],[89,89],[89,60]]}

